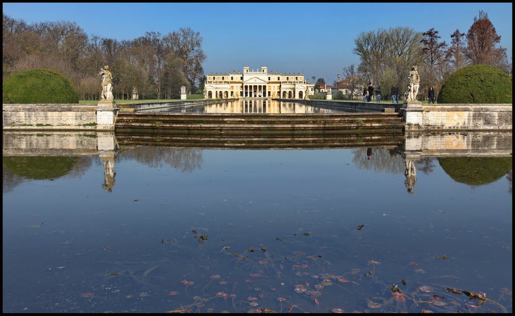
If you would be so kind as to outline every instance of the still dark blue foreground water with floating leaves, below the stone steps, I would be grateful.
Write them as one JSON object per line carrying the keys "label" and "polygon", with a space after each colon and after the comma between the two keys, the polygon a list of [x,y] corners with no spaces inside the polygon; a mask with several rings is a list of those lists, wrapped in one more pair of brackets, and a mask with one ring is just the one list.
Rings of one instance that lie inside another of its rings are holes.
{"label": "still dark blue foreground water with floating leaves, below the stone steps", "polygon": [[511,170],[371,149],[4,157],[3,311],[512,312]]}

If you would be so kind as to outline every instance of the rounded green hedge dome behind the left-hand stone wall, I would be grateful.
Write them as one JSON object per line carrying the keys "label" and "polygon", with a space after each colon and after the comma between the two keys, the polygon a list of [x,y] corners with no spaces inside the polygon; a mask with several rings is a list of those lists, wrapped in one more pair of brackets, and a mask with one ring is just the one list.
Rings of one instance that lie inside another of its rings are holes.
{"label": "rounded green hedge dome behind the left-hand stone wall", "polygon": [[4,104],[79,103],[74,85],[52,70],[35,69],[15,73],[2,85]]}

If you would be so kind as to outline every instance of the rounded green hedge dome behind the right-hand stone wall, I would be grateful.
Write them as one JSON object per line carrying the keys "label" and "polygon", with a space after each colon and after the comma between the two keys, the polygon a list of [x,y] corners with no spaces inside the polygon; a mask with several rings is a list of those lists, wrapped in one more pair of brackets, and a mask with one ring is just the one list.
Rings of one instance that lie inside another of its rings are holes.
{"label": "rounded green hedge dome behind the right-hand stone wall", "polygon": [[511,77],[499,68],[470,65],[458,69],[447,79],[438,103],[511,104]]}

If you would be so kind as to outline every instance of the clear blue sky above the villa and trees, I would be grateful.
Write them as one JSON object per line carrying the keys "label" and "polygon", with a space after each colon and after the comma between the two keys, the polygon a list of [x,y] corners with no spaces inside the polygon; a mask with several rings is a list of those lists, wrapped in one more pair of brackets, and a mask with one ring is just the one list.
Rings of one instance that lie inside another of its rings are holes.
{"label": "clear blue sky above the villa and trees", "polygon": [[435,28],[447,43],[467,33],[479,10],[488,14],[512,56],[511,3],[3,3],[3,12],[32,22],[72,21],[88,35],[129,40],[145,31],[165,35],[190,26],[203,37],[204,72],[244,65],[322,77],[328,84],[345,66],[363,31],[406,26]]}

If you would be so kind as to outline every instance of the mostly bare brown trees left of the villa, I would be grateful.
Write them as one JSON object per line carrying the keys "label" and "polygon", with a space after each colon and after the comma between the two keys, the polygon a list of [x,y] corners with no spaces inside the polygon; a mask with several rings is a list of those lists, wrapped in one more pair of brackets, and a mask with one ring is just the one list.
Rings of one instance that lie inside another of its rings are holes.
{"label": "mostly bare brown trees left of the villa", "polygon": [[113,95],[131,99],[179,98],[180,87],[202,93],[206,56],[191,27],[162,35],[148,31],[133,40],[88,36],[75,22],[28,25],[3,14],[2,80],[29,69],[57,71],[75,85],[80,99],[98,99],[98,73],[113,70]]}

